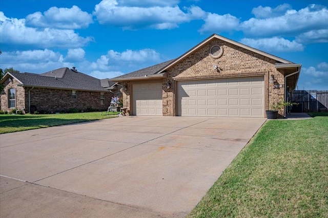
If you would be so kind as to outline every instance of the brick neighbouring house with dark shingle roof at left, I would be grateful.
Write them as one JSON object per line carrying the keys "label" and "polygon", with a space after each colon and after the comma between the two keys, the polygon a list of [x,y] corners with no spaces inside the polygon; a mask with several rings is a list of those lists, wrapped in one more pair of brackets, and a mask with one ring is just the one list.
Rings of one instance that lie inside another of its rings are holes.
{"label": "brick neighbouring house with dark shingle roof at left", "polygon": [[[97,79],[69,68],[59,68],[43,74],[7,73],[1,80],[1,110],[13,108],[26,113],[106,111],[115,95],[115,82]],[[120,92],[119,92],[120,93]]]}

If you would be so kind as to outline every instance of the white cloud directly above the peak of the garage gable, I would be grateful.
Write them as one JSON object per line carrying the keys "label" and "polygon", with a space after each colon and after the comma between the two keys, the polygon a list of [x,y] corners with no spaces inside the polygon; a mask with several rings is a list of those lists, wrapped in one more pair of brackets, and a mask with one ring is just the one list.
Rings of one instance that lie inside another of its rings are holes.
{"label": "white cloud directly above the peak of the garage gable", "polygon": [[205,24],[201,26],[199,32],[229,32],[235,30],[239,26],[239,19],[230,14],[212,14],[208,13],[207,17],[204,19]]}

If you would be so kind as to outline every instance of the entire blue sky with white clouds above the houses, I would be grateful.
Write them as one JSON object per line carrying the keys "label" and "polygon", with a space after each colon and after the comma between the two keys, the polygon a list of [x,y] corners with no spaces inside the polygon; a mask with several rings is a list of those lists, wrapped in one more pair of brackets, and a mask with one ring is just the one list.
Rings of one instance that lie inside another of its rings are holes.
{"label": "entire blue sky with white clouds above the houses", "polygon": [[103,79],[187,52],[213,33],[302,64],[328,90],[328,1],[2,0],[0,68],[61,67]]}

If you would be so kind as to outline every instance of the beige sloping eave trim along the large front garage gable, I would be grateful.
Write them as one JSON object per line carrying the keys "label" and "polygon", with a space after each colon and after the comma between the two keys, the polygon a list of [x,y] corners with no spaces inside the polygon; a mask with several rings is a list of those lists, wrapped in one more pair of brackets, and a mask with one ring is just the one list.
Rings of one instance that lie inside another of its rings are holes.
{"label": "beige sloping eave trim along the large front garage gable", "polygon": [[243,49],[247,49],[249,51],[252,51],[252,52],[255,52],[257,54],[260,54],[260,55],[263,55],[265,57],[269,57],[271,59],[274,59],[278,62],[281,62],[281,63],[292,63],[291,61],[288,61],[288,60],[285,60],[285,59],[282,59],[282,58],[279,58],[277,56],[274,56],[274,55],[271,55],[269,53],[266,53],[266,52],[263,52],[263,51],[260,51],[260,50],[257,50],[257,49],[254,49],[252,47],[249,47],[247,45],[244,45],[242,43],[239,43],[237,41],[234,41],[234,40],[231,40],[229,38],[226,38],[226,37],[223,37],[223,36],[220,36],[220,35],[217,35],[217,34],[213,34],[211,35],[210,37],[208,37],[207,39],[203,40],[202,42],[200,42],[197,46],[195,46],[194,48],[190,49],[188,52],[186,52],[185,54],[182,54],[180,57],[178,57],[177,59],[175,59],[174,61],[172,61],[171,63],[169,63],[166,67],[162,68],[160,71],[158,71],[157,73],[161,73],[163,71],[166,71],[168,68],[172,67],[174,64],[176,64],[177,62],[179,62],[180,60],[182,60],[183,58],[187,57],[188,55],[190,55],[191,53],[193,53],[194,51],[196,51],[197,49],[199,49],[200,47],[202,47],[203,45],[205,45],[207,42],[211,41],[212,39],[214,38],[217,38],[217,39],[220,39],[222,41],[226,41],[226,42],[229,42],[231,43],[232,45],[235,45],[235,46],[238,46],[240,48],[243,48]]}

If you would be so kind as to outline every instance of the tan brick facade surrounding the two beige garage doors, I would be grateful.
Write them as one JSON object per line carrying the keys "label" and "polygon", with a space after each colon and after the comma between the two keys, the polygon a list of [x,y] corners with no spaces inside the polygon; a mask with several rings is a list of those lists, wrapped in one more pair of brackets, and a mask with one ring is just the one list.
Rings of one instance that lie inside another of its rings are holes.
{"label": "tan brick facade surrounding the two beige garage doors", "polygon": [[[209,53],[214,45],[220,45],[223,48],[221,57],[212,58]],[[167,78],[162,79],[162,101],[163,116],[176,116],[176,84],[179,80],[195,79],[217,79],[247,76],[264,77],[264,110],[269,110],[272,102],[284,97],[284,71],[277,70],[276,60],[263,56],[256,52],[241,48],[218,38],[213,38],[205,45],[198,48],[187,57],[183,58],[169,69],[167,69]],[[218,66],[218,71],[214,66]],[[269,83],[269,78],[274,75],[276,84],[282,85],[282,88],[274,88]],[[167,90],[167,82],[170,81],[171,88]],[[147,83],[147,80],[144,80]],[[124,106],[132,108],[132,83],[124,82],[127,90],[123,92]],[[280,110],[282,116],[284,110]]]}

